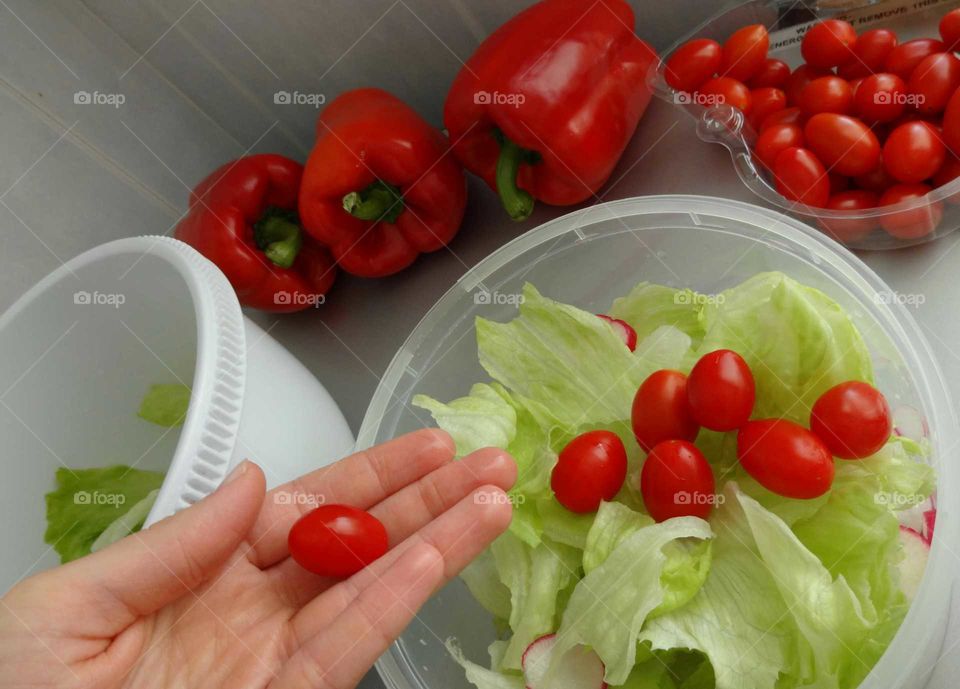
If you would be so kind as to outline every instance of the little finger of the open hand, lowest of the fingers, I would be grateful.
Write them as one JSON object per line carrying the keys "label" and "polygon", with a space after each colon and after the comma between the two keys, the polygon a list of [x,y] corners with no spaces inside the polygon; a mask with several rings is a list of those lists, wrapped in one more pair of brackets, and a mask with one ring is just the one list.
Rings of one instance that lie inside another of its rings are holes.
{"label": "little finger of the open hand, lowest of the fingers", "polygon": [[284,666],[273,689],[351,689],[437,588],[443,558],[425,543],[408,548],[384,576]]}

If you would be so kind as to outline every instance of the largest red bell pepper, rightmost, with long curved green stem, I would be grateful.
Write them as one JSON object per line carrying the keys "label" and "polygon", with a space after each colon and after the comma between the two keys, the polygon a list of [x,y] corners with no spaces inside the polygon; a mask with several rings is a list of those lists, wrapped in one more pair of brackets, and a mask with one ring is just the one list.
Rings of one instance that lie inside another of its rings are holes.
{"label": "largest red bell pepper, rightmost, with long curved green stem", "polygon": [[443,109],[454,152],[514,220],[593,196],[650,101],[653,49],[623,0],[543,0],[491,34]]}

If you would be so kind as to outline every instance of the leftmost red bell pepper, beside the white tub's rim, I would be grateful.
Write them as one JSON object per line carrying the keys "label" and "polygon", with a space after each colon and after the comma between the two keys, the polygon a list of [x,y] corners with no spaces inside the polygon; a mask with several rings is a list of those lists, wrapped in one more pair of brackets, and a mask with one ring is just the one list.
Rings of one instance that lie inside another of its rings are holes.
{"label": "leftmost red bell pepper, beside the white tub's rim", "polygon": [[174,236],[217,264],[244,306],[299,311],[323,303],[337,267],[297,220],[303,166],[252,155],[210,173]]}

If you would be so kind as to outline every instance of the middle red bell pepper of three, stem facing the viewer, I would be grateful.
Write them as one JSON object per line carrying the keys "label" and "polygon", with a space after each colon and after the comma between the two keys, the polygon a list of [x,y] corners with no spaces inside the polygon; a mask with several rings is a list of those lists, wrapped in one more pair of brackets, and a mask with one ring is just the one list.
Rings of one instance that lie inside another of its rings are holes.
{"label": "middle red bell pepper of three, stem facing the viewer", "polygon": [[317,121],[300,192],[304,229],[348,273],[396,273],[460,228],[467,182],[450,144],[386,91],[348,91]]}

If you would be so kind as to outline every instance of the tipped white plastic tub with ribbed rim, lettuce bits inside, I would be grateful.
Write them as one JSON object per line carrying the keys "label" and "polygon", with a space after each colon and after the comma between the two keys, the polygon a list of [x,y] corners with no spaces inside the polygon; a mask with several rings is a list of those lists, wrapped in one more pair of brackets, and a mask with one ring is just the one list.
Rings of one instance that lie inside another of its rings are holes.
{"label": "tipped white plastic tub with ribbed rim, lettuce bits inside", "polygon": [[[50,273],[0,317],[0,350],[0,425],[17,458],[0,482],[0,518],[17,525],[0,591],[59,562],[43,542],[43,496],[61,466],[165,471],[150,525],[245,458],[272,487],[353,448],[317,379],[243,316],[213,263],[168,237],[103,244]],[[191,388],[182,426],[137,417],[156,383]]]}

